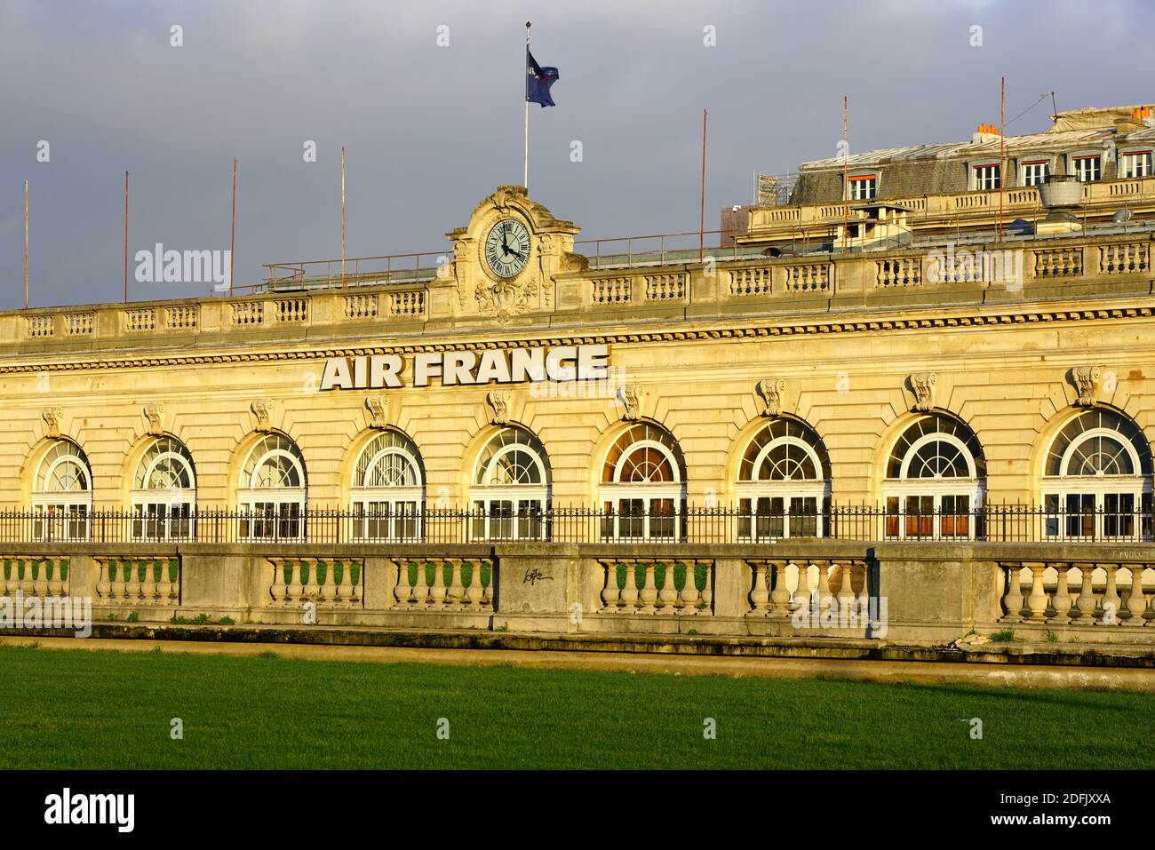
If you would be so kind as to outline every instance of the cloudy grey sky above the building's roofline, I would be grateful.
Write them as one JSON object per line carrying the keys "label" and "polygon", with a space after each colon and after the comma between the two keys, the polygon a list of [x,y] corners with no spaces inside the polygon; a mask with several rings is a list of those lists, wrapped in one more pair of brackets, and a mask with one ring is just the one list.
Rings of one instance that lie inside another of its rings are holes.
{"label": "cloudy grey sky above the building's roofline", "polygon": [[[342,144],[349,255],[445,248],[521,181],[527,18],[560,69],[557,107],[530,107],[530,194],[579,238],[698,228],[703,107],[713,229],[754,171],[836,155],[843,94],[852,151],[969,137],[998,121],[1003,74],[1007,119],[1052,89],[1060,110],[1155,99],[1141,0],[2,0],[0,308],[23,305],[24,179],[33,307],[121,298],[126,169],[131,254],[226,249],[239,158],[238,285],[341,255]],[[134,268],[134,300],[208,290]]]}

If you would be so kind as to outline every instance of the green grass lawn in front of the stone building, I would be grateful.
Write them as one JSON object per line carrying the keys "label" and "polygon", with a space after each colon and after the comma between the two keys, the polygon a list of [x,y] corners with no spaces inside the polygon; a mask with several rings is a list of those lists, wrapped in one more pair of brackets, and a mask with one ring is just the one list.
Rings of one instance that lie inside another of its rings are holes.
{"label": "green grass lawn in front of the stone building", "polygon": [[[1138,693],[0,646],[6,768],[1153,768],[1153,706]],[[970,717],[982,740],[956,719]]]}

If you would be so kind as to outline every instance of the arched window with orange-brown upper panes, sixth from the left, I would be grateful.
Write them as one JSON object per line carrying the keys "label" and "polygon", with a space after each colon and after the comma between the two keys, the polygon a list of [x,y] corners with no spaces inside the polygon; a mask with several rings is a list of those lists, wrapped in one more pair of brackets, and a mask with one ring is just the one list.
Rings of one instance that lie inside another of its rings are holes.
{"label": "arched window with orange-brown upper panes, sixth from the left", "polygon": [[602,464],[598,497],[604,538],[681,538],[686,464],[673,434],[648,422],[621,432]]}

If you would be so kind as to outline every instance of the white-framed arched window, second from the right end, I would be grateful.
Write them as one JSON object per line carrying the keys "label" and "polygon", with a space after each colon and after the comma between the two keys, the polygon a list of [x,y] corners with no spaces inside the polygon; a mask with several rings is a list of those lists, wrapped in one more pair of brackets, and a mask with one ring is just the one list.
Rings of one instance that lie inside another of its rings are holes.
{"label": "white-framed arched window, second from the right end", "polygon": [[986,460],[975,433],[944,413],[907,427],[891,449],[882,495],[886,536],[975,537],[986,490]]}

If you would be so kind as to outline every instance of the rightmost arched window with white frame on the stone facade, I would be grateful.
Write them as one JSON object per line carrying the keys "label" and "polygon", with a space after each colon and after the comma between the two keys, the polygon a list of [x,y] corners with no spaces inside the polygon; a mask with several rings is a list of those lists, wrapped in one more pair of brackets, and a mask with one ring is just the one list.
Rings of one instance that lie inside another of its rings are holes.
{"label": "rightmost arched window with white frame on the stone facade", "polygon": [[1049,536],[1150,538],[1152,450],[1139,426],[1093,408],[1064,425],[1043,465]]}

